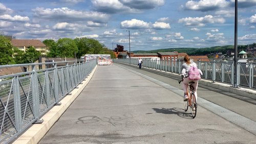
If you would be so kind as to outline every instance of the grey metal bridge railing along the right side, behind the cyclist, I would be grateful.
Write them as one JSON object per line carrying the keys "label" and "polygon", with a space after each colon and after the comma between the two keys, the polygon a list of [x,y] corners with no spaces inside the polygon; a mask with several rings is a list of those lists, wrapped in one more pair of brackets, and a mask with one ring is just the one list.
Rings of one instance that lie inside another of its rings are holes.
{"label": "grey metal bridge railing along the right side, behind the cyclist", "polygon": [[[249,59],[247,62],[244,59],[239,59],[238,76],[234,79],[234,63],[233,61],[225,61],[222,59],[211,59],[210,61],[195,61],[198,67],[203,72],[203,79],[211,80],[212,82],[219,81],[234,84],[237,80],[238,86],[256,88],[256,62],[255,59]],[[114,59],[114,62],[130,63],[130,59]],[[131,59],[131,64],[138,65],[138,59]],[[143,67],[153,68],[156,70],[168,71],[170,73],[181,74],[181,66],[183,60],[151,60],[143,59]]]}

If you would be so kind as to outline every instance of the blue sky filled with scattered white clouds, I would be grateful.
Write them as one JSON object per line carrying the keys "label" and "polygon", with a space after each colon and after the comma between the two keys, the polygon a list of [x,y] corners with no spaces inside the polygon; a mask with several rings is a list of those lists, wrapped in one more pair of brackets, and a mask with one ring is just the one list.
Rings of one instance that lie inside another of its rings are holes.
{"label": "blue sky filled with scattered white clouds", "polygon": [[[127,51],[233,45],[234,1],[0,0],[0,31],[41,41],[94,38]],[[256,0],[238,0],[238,44],[254,42]]]}

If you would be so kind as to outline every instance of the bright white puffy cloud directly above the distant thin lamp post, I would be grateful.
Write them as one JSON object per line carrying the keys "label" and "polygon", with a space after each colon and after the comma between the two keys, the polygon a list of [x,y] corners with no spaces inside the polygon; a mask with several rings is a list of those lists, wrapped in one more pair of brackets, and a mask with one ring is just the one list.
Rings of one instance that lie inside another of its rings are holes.
{"label": "bright white puffy cloud directly above the distant thin lamp post", "polygon": [[124,20],[121,22],[121,28],[123,29],[146,29],[149,28],[149,23],[143,21],[143,20]]}

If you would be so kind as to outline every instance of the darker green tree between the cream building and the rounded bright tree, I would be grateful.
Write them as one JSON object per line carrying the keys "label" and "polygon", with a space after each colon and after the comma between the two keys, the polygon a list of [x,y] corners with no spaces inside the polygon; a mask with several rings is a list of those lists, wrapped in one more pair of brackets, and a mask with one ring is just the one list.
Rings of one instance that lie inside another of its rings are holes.
{"label": "darker green tree between the cream building and the rounded bright tree", "polygon": [[49,52],[47,57],[55,58],[60,55],[59,50],[57,49],[57,43],[53,39],[46,39],[42,41],[47,47],[49,47]]}

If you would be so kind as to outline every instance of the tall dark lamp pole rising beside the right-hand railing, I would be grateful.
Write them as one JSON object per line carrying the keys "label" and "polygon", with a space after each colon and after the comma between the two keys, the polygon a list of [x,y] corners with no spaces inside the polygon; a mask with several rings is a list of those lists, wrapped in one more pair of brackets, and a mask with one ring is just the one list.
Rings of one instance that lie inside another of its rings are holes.
{"label": "tall dark lamp pole rising beside the right-hand railing", "polygon": [[238,87],[238,0],[234,6],[234,84],[233,87]]}

